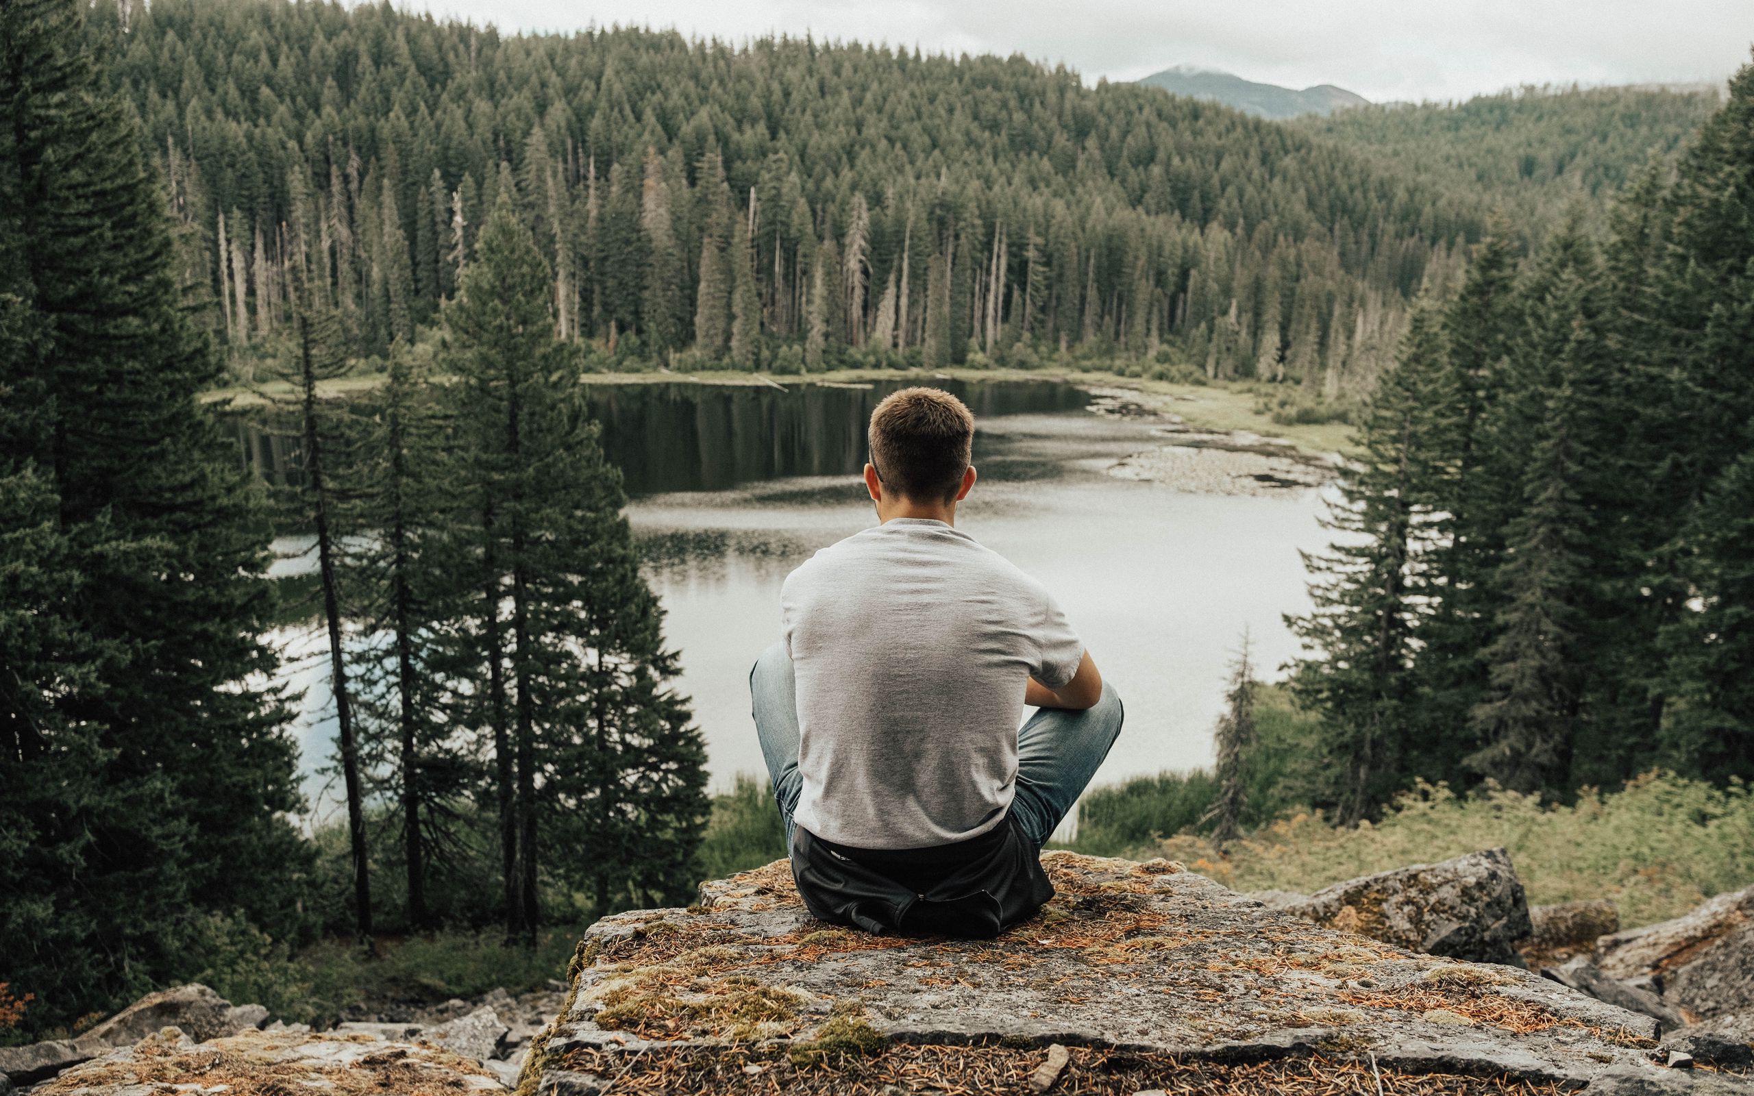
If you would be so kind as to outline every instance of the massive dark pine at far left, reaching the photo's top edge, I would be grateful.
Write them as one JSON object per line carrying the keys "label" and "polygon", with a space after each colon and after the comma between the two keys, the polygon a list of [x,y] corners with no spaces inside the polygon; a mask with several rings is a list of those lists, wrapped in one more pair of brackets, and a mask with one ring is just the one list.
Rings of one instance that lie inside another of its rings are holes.
{"label": "massive dark pine at far left, reaching the photo's top edge", "polygon": [[[0,921],[44,1024],[195,975],[189,910],[302,926],[267,537],[196,395],[165,200],[81,5],[0,7]],[[26,400],[18,407],[16,400]],[[21,566],[14,570],[14,561]]]}

